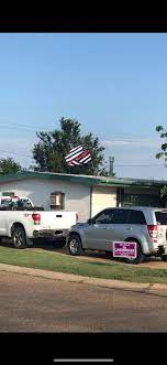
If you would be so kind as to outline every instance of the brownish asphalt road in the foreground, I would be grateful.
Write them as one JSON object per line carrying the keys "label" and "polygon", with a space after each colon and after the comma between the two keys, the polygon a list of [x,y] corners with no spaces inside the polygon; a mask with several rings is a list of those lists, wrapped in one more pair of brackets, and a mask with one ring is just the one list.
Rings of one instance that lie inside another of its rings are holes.
{"label": "brownish asphalt road in the foreground", "polygon": [[167,332],[167,298],[0,273],[0,332]]}

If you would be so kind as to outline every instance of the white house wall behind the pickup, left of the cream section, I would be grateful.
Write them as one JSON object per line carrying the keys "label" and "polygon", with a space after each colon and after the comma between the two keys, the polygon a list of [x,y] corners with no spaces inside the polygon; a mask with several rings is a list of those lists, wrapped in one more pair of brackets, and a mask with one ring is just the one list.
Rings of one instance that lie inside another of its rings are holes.
{"label": "white house wall behind the pickup, left of the cream section", "polygon": [[88,185],[60,180],[26,179],[0,184],[0,192],[3,191],[30,197],[34,205],[43,205],[45,210],[49,210],[49,194],[60,191],[65,193],[65,211],[77,212],[80,222],[90,217],[90,186]]}

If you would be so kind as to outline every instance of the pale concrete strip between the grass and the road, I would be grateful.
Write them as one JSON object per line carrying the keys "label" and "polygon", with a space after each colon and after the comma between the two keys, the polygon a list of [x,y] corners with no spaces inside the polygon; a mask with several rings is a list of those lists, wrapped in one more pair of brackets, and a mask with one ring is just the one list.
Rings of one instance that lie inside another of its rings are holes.
{"label": "pale concrete strip between the grass and the road", "polygon": [[140,283],[140,282],[131,282],[123,280],[98,279],[98,278],[77,276],[73,273],[54,272],[49,270],[32,269],[32,268],[20,267],[14,265],[5,265],[5,264],[0,264],[0,271],[27,275],[32,277],[40,277],[51,280],[80,282],[80,283],[87,283],[91,286],[110,288],[110,289],[138,291],[143,293],[152,293],[152,294],[167,297],[167,285],[160,285],[160,283],[149,283],[149,282]]}

